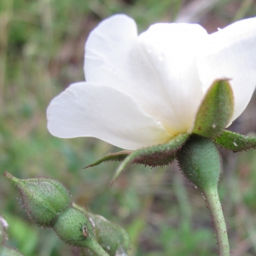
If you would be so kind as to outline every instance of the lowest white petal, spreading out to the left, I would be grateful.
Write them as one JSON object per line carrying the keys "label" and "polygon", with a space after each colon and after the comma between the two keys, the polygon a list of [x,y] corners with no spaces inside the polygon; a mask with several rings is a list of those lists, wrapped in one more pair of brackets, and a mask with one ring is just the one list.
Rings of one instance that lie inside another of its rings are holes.
{"label": "lowest white petal, spreading out to the left", "polygon": [[72,84],[56,96],[47,118],[49,132],[55,137],[97,137],[131,150],[171,138],[130,96],[90,83]]}

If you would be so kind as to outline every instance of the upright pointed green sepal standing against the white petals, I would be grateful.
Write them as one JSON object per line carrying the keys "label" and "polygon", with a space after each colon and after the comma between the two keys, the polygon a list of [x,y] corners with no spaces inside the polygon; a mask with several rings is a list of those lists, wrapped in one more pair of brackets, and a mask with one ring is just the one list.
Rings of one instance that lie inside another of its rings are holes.
{"label": "upright pointed green sepal standing against the white petals", "polygon": [[192,133],[217,137],[229,124],[234,112],[234,96],[228,79],[212,83],[195,117]]}

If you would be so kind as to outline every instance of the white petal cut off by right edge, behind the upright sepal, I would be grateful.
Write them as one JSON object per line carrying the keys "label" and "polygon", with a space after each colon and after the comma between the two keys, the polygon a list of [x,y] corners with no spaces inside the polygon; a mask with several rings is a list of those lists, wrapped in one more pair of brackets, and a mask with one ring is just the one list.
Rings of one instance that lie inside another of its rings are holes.
{"label": "white petal cut off by right edge, behind the upright sepal", "polygon": [[204,90],[214,79],[228,78],[235,97],[236,119],[247,107],[256,85],[256,18],[241,20],[209,36],[198,61]]}

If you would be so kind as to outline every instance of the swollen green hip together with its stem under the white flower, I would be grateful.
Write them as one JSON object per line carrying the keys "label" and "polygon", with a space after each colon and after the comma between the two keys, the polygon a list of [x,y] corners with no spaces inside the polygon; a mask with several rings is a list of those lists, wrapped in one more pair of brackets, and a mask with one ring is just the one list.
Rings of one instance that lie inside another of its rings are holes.
{"label": "swollen green hip together with its stem under the white flower", "polygon": [[183,174],[201,192],[211,211],[217,233],[218,255],[229,256],[227,228],[218,198],[218,180],[222,171],[218,148],[211,139],[194,135],[177,153],[177,160]]}

